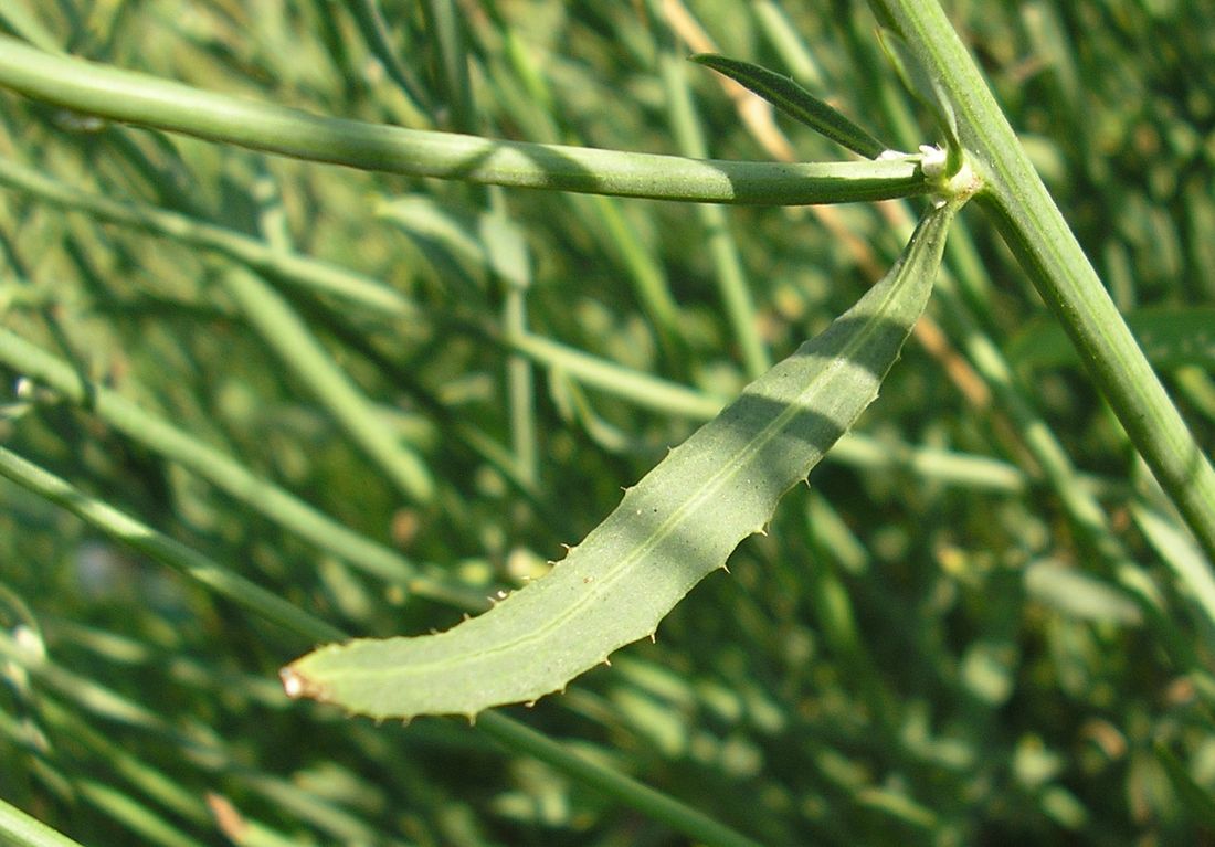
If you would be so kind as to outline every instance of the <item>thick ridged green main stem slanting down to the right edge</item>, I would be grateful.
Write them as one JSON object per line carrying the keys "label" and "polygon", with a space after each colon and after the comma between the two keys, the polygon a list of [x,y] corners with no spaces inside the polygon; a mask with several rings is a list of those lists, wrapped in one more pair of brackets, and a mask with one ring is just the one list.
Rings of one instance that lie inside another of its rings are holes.
{"label": "thick ridged green main stem slanting down to the right edge", "polygon": [[870,0],[938,74],[968,158],[987,183],[977,201],[1067,329],[1160,487],[1215,561],[1215,469],[1152,371],[1075,236],[1021,148],[938,2]]}

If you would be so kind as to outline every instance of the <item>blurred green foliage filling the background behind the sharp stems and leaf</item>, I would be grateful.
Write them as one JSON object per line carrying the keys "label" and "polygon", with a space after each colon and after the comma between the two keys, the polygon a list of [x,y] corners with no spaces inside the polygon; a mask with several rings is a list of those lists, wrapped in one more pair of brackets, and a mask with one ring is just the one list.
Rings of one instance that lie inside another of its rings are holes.
{"label": "blurred green foliage filling the background behind the sharp stems and leaf", "polygon": [[[9,32],[40,28],[96,61],[419,129],[688,153],[672,98],[686,91],[713,157],[769,158],[784,134],[798,159],[842,158],[792,123],[750,131],[720,80],[682,62],[712,46],[792,73],[904,149],[933,140],[868,9],[842,0],[457,2],[463,89],[442,69],[437,2],[384,0],[382,45],[358,2],[2,6]],[[1215,7],[945,6],[1209,451]],[[682,83],[665,80],[671,58]],[[10,92],[0,154],[408,304],[392,315],[265,275],[420,458],[429,499],[403,495],[267,346],[226,283],[244,272],[231,255],[0,185],[0,326],[390,549],[409,576],[318,548],[115,429],[89,393],[19,382],[12,360],[4,445],[373,636],[446,628],[543,574],[699,424],[677,388],[712,408],[753,375],[755,350],[787,355],[881,273],[915,211],[714,215],[486,190],[134,130]],[[786,497],[729,576],[697,587],[656,644],[510,715],[764,843],[1210,837],[1213,632],[1172,576],[1198,554],[1050,340],[1006,248],[979,215],[961,224],[961,298],[1160,594],[1169,633],[1078,542],[957,324],[929,307],[859,436]],[[724,294],[730,275],[753,315]],[[519,310],[531,346],[510,341]],[[665,382],[639,402],[612,389],[622,372],[580,379],[571,351]],[[13,485],[0,482],[0,797],[85,843],[686,843],[465,722],[374,725],[290,702],[277,670],[311,644]]]}

